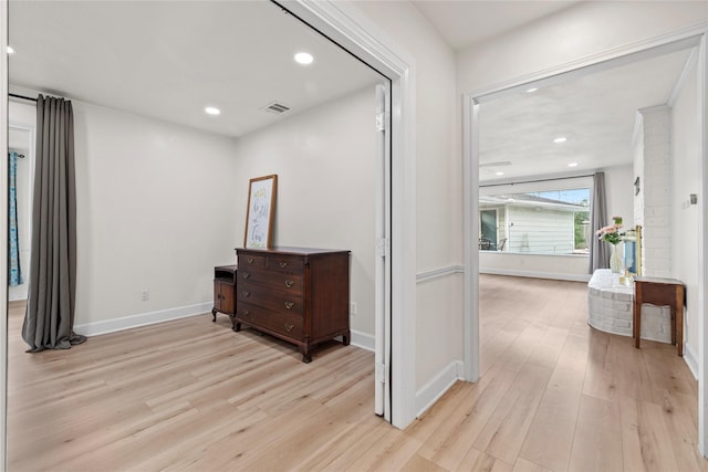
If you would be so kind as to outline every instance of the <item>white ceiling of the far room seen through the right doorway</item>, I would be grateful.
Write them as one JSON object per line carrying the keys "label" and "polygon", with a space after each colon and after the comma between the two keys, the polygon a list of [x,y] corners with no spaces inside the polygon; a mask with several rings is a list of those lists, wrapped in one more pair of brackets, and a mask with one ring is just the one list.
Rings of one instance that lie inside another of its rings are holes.
{"label": "white ceiling of the far room seen through the right doorway", "polygon": [[[587,174],[633,161],[637,111],[665,105],[689,50],[482,102],[480,181]],[[563,137],[563,143],[554,139]]]}

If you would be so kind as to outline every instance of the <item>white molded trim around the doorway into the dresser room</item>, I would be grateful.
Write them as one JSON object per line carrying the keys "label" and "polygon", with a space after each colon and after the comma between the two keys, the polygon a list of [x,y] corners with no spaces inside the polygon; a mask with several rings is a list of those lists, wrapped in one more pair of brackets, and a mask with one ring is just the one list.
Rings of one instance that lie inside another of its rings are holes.
{"label": "white molded trim around the doorway into the dresser room", "polygon": [[[391,388],[392,423],[416,418],[416,147],[415,61],[355,7],[296,0],[293,11],[391,80]],[[382,283],[382,281],[375,281]]]}

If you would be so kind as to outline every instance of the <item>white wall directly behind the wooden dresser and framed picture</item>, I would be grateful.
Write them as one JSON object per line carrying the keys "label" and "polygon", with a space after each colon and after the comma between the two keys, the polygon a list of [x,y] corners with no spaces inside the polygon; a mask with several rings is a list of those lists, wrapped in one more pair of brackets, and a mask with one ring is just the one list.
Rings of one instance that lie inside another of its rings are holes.
{"label": "white wall directly behind the wooden dresser and framed picture", "polygon": [[[352,251],[356,335],[374,336],[375,90],[292,116],[236,141],[233,218],[242,247],[249,179],[278,175],[274,244]],[[362,339],[353,339],[362,343]],[[357,343],[357,344],[358,344]]]}

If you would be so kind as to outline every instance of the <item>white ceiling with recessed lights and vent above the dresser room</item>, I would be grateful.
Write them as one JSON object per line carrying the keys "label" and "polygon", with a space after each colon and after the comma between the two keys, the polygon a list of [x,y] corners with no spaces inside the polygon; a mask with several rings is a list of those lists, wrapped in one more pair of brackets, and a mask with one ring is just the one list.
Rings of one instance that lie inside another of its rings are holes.
{"label": "white ceiling with recessed lights and vent above the dresser room", "polygon": [[[11,1],[10,84],[242,136],[382,76],[269,1]],[[314,62],[293,61],[305,51]],[[291,109],[264,111],[271,103]],[[204,113],[206,106],[221,111]]]}

